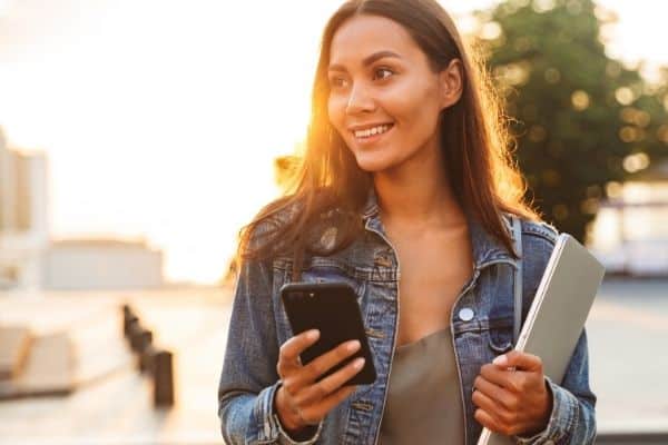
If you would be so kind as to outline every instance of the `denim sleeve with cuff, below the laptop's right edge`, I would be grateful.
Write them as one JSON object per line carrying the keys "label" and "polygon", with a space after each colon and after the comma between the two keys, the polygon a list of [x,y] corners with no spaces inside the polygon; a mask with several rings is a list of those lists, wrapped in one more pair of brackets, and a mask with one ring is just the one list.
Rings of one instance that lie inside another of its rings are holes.
{"label": "denim sleeve with cuff, below the laptop's right edge", "polygon": [[552,394],[552,413],[544,431],[514,436],[518,444],[588,445],[596,438],[596,395],[589,387],[587,329],[582,329],[560,385],[546,377]]}

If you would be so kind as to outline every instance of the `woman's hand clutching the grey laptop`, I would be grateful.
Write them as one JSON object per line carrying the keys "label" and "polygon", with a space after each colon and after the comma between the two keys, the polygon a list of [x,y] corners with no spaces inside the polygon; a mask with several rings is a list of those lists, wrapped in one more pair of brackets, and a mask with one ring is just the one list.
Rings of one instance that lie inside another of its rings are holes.
{"label": "woman's hand clutching the grey laptop", "polygon": [[507,436],[540,433],[552,413],[547,385],[540,357],[519,350],[501,355],[483,365],[473,382],[473,403],[480,408],[474,417]]}

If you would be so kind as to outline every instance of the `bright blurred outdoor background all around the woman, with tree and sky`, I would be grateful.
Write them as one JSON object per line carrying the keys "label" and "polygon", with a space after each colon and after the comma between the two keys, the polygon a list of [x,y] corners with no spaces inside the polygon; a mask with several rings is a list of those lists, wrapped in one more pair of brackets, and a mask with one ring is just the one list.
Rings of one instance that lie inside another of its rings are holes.
{"label": "bright blurred outdoor background all around the woman, with tree and sky", "polygon": [[[0,443],[222,443],[237,233],[304,139],[340,3],[0,0]],[[668,3],[441,3],[529,198],[607,267],[599,442],[668,443]]]}

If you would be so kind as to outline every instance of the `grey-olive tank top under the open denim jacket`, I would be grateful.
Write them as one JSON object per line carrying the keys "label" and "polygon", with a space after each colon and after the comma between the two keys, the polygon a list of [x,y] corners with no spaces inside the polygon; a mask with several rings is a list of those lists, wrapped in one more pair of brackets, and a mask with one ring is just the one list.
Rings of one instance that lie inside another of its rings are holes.
{"label": "grey-olive tank top under the open denim jacket", "polygon": [[451,337],[448,327],[395,348],[380,445],[464,443]]}

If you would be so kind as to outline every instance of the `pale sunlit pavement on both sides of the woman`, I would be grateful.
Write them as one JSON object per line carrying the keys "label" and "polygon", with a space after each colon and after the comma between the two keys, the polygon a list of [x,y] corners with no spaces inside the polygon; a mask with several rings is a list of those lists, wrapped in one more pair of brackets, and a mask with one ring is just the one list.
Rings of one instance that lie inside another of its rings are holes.
{"label": "pale sunlit pavement on both sides of the woman", "polygon": [[[668,280],[607,280],[599,291],[586,326],[599,434],[668,433],[667,294]],[[153,407],[150,379],[122,343],[122,303],[174,352],[171,408]],[[79,368],[88,378],[69,396],[0,402],[0,444],[223,443],[216,388],[229,303],[229,289],[0,293],[0,323],[68,329],[88,357]]]}

